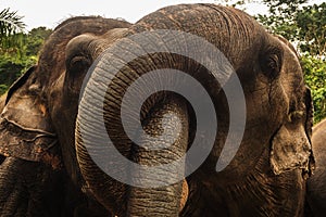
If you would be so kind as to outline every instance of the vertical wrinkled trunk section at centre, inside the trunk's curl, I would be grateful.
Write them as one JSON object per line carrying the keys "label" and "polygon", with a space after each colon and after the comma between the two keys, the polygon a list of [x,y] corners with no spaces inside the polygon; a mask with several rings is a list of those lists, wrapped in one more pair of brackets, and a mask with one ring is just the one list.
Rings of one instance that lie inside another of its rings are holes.
{"label": "vertical wrinkled trunk section at centre, inside the trunk's curl", "polygon": [[[162,122],[163,115],[168,115],[170,113],[174,113],[176,116],[168,119],[168,122],[164,122],[164,135],[168,138],[175,138],[175,133],[179,132],[177,140],[174,144],[167,148],[166,151],[163,152],[149,152],[140,148],[134,151],[133,159],[141,165],[154,165],[154,164],[164,164],[168,161],[176,161],[181,157],[184,153],[187,151],[187,142],[188,142],[188,114],[185,102],[180,101],[164,101],[164,104],[159,104],[155,106],[155,111],[149,114],[143,120],[143,129],[148,135],[154,136],[160,132],[162,126],[160,122]],[[181,124],[176,125],[178,119]],[[146,139],[142,139],[142,144],[147,145]],[[162,144],[165,141],[156,141],[158,144]],[[149,144],[152,145],[153,143]],[[133,170],[131,170],[133,173]],[[162,177],[172,177],[177,174],[184,173],[184,168],[176,168],[174,171],[171,170],[162,170],[159,174]],[[138,176],[143,176],[147,178],[146,174],[140,174]],[[156,179],[163,179],[162,177],[156,177]],[[137,178],[137,175],[135,176]],[[150,180],[149,180],[150,181]],[[164,180],[162,180],[164,181]],[[128,201],[128,209],[127,216],[178,216],[179,210],[181,209],[180,201],[181,201],[181,192],[183,192],[183,181],[177,182],[175,184],[168,187],[161,187],[155,189],[141,189],[130,187],[129,189],[129,201]]]}

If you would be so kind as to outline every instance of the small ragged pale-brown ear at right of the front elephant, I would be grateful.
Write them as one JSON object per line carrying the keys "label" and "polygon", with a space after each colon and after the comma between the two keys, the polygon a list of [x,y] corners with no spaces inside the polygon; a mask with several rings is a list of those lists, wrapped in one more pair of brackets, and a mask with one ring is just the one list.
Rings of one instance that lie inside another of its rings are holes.
{"label": "small ragged pale-brown ear at right of the front elephant", "polygon": [[308,88],[304,107],[305,111],[291,112],[272,140],[271,165],[276,175],[301,168],[310,176],[314,169],[311,145],[313,105]]}

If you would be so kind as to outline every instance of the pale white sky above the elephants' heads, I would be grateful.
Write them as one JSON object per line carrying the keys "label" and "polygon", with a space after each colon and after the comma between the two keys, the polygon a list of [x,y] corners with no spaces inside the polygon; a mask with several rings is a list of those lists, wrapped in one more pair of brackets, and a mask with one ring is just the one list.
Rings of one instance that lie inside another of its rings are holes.
{"label": "pale white sky above the elephants' heads", "polygon": [[[229,0],[231,1],[231,0]],[[322,2],[325,0],[313,0]],[[214,0],[0,0],[0,11],[10,8],[17,11],[26,29],[46,26],[54,28],[62,21],[76,15],[101,15],[108,18],[124,18],[135,23],[142,16],[166,5],[178,3],[218,2]],[[221,0],[220,0],[221,2]],[[249,14],[265,13],[258,3],[247,5]]]}

